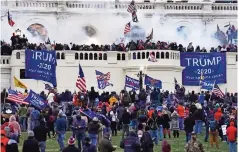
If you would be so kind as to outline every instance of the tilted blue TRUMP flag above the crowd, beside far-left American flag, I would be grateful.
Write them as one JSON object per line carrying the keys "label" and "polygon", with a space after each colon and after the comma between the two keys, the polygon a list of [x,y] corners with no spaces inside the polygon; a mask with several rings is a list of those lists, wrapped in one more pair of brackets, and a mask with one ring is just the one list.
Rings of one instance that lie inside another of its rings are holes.
{"label": "tilted blue TRUMP flag above the crowd, beside far-left American flag", "polygon": [[30,93],[28,94],[27,98],[24,99],[24,101],[28,102],[30,105],[38,108],[38,109],[44,109],[47,106],[46,101],[41,98],[41,96],[34,91],[30,90]]}

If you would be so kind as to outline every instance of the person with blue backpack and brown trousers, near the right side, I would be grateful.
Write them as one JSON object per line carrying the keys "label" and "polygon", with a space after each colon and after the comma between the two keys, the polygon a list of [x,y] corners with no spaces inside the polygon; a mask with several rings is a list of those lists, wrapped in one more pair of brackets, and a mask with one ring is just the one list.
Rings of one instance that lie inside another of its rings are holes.
{"label": "person with blue backpack and brown trousers, near the right side", "polygon": [[216,120],[211,120],[209,123],[209,127],[210,127],[210,133],[209,133],[209,137],[210,137],[210,145],[213,148],[213,144],[216,144],[216,148],[219,148],[218,145],[218,123]]}

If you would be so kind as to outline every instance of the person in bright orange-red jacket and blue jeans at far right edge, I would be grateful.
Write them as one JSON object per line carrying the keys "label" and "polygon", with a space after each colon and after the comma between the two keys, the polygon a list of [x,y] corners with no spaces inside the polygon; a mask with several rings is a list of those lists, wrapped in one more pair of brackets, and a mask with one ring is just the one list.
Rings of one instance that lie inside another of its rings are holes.
{"label": "person in bright orange-red jacket and blue jeans at far right edge", "polygon": [[236,152],[236,136],[237,136],[237,128],[235,127],[235,123],[230,122],[230,126],[226,129],[227,141],[229,142],[229,152]]}

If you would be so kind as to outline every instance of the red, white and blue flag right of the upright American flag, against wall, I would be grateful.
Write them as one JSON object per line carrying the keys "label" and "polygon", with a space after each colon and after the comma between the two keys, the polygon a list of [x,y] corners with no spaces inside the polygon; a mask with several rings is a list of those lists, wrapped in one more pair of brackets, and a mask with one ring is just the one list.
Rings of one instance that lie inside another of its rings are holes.
{"label": "red, white and blue flag right of the upright American flag, against wall", "polygon": [[105,89],[107,86],[113,86],[113,84],[109,83],[111,74],[108,72],[107,74],[103,74],[100,71],[95,70],[96,77],[98,81],[98,88],[99,89]]}

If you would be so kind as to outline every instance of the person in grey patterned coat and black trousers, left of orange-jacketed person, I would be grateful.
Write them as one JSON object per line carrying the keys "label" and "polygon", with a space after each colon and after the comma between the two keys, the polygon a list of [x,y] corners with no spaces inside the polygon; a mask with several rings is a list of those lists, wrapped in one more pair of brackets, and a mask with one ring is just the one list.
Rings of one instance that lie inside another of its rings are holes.
{"label": "person in grey patterned coat and black trousers, left of orange-jacketed person", "polygon": [[171,114],[171,130],[174,138],[179,138],[179,115],[176,110]]}

